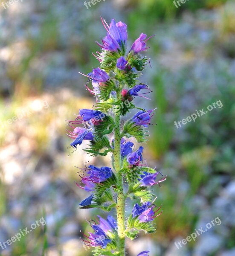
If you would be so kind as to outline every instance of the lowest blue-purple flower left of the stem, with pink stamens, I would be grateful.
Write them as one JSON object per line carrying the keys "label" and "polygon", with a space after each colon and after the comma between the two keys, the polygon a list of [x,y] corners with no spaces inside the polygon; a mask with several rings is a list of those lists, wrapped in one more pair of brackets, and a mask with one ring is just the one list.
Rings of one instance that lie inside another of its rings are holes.
{"label": "lowest blue-purple flower left of the stem, with pink stamens", "polygon": [[112,240],[107,238],[106,234],[100,227],[93,225],[92,228],[95,233],[88,232],[90,234],[90,236],[88,237],[90,239],[90,242],[85,242],[88,242],[93,247],[100,246],[105,249],[107,247],[107,244],[110,243]]}

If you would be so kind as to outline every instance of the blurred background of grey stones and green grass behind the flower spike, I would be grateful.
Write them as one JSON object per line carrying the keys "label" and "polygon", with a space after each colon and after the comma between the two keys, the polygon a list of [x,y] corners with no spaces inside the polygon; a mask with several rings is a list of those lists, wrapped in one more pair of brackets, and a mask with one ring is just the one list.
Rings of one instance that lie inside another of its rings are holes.
{"label": "blurred background of grey stones and green grass behind the flower spike", "polygon": [[[157,233],[127,241],[128,255],[235,256],[235,2],[106,0],[88,9],[76,0],[0,2],[0,241],[46,220],[0,255],[92,255],[79,238],[99,211],[78,209],[89,194],[75,185],[74,166],[110,166],[110,156],[89,157],[85,143],[68,156],[65,120],[95,103],[78,72],[99,66],[91,53],[106,34],[102,16],[128,24],[128,47],[141,32],[155,34],[146,52],[152,68],[141,77],[152,100],[135,101],[158,108],[143,156],[168,178],[153,188],[163,204]],[[219,100],[222,108],[174,125]],[[216,217],[220,225],[174,245]]]}

